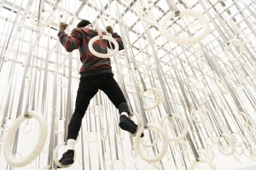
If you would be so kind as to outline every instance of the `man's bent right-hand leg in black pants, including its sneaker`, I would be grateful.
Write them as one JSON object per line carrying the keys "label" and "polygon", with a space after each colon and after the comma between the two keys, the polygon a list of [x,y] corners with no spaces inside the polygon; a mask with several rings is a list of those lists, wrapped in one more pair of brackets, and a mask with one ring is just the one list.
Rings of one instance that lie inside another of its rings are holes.
{"label": "man's bent right-hand leg in black pants, including its sneaker", "polygon": [[[130,111],[122,90],[119,88],[118,83],[113,79],[112,75],[108,75],[107,77],[107,81],[100,87],[100,89],[108,95],[108,98],[112,101],[113,105],[119,110],[119,127],[130,133],[136,133],[137,124],[129,118]],[[125,116],[123,113],[127,113],[128,116]]]}

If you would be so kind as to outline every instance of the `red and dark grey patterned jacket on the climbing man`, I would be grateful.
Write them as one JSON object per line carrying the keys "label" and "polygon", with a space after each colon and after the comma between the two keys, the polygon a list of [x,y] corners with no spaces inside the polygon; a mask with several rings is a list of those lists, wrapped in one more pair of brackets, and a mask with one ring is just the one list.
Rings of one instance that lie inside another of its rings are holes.
{"label": "red and dark grey patterned jacket on the climbing man", "polygon": [[[102,31],[102,34],[106,35],[106,32]],[[79,48],[80,60],[83,63],[79,71],[81,77],[89,77],[102,73],[113,74],[110,59],[98,58],[90,53],[88,43],[92,37],[96,37],[97,35],[97,31],[89,26],[75,28],[70,35],[67,35],[64,31],[58,33],[60,42],[66,48],[67,52],[72,52],[74,49]],[[112,37],[119,43],[119,50],[124,49],[122,38],[117,33],[113,33]],[[93,48],[98,53],[107,54],[110,45],[105,40],[99,40],[93,44]]]}

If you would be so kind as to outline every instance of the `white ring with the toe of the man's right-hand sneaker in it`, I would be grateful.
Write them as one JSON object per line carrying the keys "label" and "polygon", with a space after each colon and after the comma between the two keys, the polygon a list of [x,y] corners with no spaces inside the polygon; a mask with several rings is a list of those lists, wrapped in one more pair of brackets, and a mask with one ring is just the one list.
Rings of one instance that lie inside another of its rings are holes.
{"label": "white ring with the toe of the man's right-hand sneaker in it", "polygon": [[160,126],[158,126],[156,124],[153,124],[153,123],[148,123],[147,128],[157,129],[157,131],[160,133],[160,135],[162,137],[162,143],[163,144],[162,144],[162,148],[161,148],[159,154],[157,156],[154,156],[154,157],[148,157],[143,153],[143,150],[142,150],[141,145],[140,145],[140,138],[141,138],[141,134],[144,131],[144,127],[140,127],[138,132],[137,132],[135,143],[134,143],[135,144],[135,149],[137,150],[137,154],[139,156],[141,156],[146,161],[150,161],[150,162],[160,161],[160,159],[163,156],[165,156],[165,154],[166,154],[168,140],[166,139],[166,135],[165,135],[165,133],[163,132],[163,130]]}

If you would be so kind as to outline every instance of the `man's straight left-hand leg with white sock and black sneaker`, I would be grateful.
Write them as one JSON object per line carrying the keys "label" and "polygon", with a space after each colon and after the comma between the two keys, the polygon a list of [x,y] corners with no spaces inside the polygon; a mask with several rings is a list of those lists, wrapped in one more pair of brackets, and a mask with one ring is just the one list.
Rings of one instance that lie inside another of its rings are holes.
{"label": "man's straight left-hand leg with white sock and black sneaker", "polygon": [[67,132],[67,147],[68,150],[61,157],[61,164],[68,165],[73,163],[74,156],[74,144],[78,138],[79,130],[82,124],[82,120],[90,103],[90,99],[94,97],[98,89],[95,86],[90,85],[90,77],[82,77],[79,83],[79,89],[76,98],[75,110],[73,116],[68,124]]}

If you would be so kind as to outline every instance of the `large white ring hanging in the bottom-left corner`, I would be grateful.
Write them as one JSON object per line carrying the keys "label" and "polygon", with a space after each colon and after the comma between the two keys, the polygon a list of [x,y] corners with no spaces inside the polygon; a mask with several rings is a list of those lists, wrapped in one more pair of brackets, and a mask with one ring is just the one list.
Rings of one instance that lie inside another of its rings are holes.
{"label": "large white ring hanging in the bottom-left corner", "polygon": [[[15,138],[15,132],[20,127],[20,124],[28,118],[35,118],[38,120],[40,132],[38,134],[38,143],[33,148],[31,154],[23,159],[17,159],[12,152],[13,140]],[[6,134],[3,144],[3,153],[6,161],[14,167],[26,166],[32,162],[44,148],[44,144],[47,137],[47,123],[44,121],[44,116],[36,113],[35,111],[29,111],[28,116],[19,116],[15,122],[9,127],[9,131]]]}

